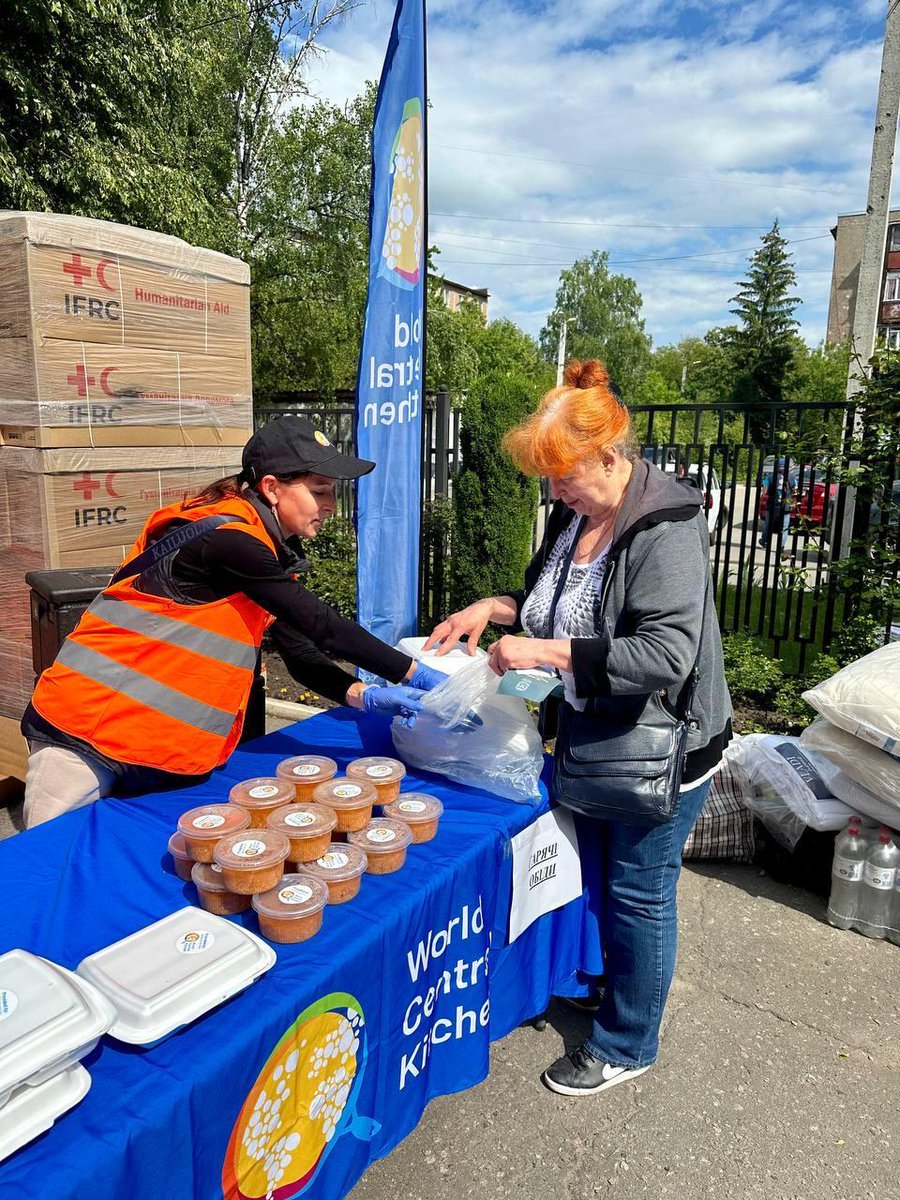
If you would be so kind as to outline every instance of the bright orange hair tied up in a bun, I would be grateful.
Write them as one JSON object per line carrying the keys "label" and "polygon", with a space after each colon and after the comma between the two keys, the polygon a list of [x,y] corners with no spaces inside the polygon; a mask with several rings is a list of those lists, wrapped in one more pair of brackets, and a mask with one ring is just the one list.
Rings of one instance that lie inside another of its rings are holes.
{"label": "bright orange hair tied up in a bun", "polygon": [[610,446],[632,457],[631,418],[612,390],[604,364],[599,359],[570,362],[564,379],[503,439],[518,468],[526,475],[558,478]]}

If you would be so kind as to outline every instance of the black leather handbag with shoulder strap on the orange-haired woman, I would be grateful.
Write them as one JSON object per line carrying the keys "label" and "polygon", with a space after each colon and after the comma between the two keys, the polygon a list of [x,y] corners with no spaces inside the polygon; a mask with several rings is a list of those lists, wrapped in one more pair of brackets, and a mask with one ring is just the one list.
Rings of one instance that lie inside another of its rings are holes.
{"label": "black leather handbag with shoulder strap on the orange-haired woman", "polygon": [[[578,533],[557,584],[551,631]],[[706,607],[707,590],[701,636]],[[676,712],[665,692],[596,698],[582,713],[563,703],[553,756],[553,799],[604,821],[634,826],[671,821],[682,786],[688,733],[696,727],[692,707],[698,678],[695,661]]]}

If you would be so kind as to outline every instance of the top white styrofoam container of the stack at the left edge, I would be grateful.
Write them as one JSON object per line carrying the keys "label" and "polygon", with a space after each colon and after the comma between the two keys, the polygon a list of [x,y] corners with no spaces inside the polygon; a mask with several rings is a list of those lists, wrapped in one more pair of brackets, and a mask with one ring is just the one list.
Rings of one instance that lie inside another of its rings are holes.
{"label": "top white styrofoam container of the stack at the left edge", "polygon": [[0,1124],[17,1087],[42,1084],[90,1054],[115,1015],[65,967],[28,950],[0,955]]}

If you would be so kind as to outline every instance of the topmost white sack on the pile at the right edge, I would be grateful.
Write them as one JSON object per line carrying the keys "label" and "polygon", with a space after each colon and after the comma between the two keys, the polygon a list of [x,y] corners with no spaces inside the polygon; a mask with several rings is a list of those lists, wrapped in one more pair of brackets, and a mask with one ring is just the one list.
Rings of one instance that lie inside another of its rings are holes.
{"label": "topmost white sack on the pile at the right edge", "polygon": [[857,659],[803,698],[832,725],[900,755],[900,642]]}

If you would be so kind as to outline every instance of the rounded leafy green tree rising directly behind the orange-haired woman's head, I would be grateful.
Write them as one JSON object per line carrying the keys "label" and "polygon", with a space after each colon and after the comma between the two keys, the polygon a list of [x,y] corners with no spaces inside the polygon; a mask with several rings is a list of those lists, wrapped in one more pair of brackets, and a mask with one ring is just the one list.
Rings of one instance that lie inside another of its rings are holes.
{"label": "rounded leafy green tree rising directly behind the orange-haired woman's head", "polygon": [[650,338],[641,317],[641,293],[626,275],[611,275],[610,256],[595,250],[559,272],[556,306],[541,330],[547,362],[556,364],[562,322],[566,328],[566,358],[601,359],[632,401],[649,368]]}

